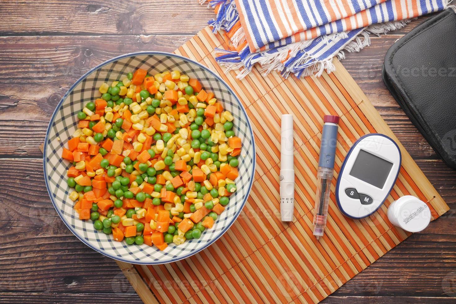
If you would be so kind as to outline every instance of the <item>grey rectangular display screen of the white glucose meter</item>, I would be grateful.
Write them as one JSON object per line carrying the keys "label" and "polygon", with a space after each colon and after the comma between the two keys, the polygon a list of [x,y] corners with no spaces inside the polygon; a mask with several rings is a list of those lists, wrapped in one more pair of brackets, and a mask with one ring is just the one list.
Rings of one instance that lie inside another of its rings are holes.
{"label": "grey rectangular display screen of the white glucose meter", "polygon": [[350,175],[382,189],[393,163],[364,150],[359,150]]}

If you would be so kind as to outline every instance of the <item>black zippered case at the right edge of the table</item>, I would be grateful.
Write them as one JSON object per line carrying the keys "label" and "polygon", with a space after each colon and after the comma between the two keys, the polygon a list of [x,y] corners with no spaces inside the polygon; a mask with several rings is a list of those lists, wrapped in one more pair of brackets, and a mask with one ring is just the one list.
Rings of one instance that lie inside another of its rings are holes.
{"label": "black zippered case at the right edge of the table", "polygon": [[383,82],[447,165],[456,169],[456,13],[447,9],[396,41]]}

